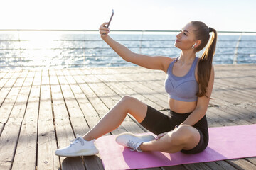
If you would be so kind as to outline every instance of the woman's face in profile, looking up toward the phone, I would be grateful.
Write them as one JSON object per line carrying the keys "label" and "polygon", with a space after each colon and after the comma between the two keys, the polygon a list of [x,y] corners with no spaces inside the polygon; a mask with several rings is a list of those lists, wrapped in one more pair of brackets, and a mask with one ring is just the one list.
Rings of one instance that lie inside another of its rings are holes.
{"label": "woman's face in profile, looking up toward the phone", "polygon": [[195,35],[193,34],[193,26],[188,23],[182,30],[181,33],[176,35],[176,41],[174,46],[181,50],[191,50],[192,46],[196,43]]}

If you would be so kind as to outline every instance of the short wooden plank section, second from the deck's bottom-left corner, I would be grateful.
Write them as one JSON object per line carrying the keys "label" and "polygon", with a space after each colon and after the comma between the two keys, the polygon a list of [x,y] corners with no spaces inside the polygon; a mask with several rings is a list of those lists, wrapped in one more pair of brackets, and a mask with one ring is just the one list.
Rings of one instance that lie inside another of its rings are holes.
{"label": "short wooden plank section, second from the deck's bottom-left corner", "polygon": [[36,169],[37,123],[23,122],[12,169]]}

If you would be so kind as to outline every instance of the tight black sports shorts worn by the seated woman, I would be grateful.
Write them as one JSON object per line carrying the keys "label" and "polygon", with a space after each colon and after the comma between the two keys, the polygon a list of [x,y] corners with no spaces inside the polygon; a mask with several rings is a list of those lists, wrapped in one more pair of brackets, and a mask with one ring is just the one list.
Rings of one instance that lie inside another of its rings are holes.
{"label": "tight black sports shorts worn by the seated woman", "polygon": [[[183,123],[183,121],[186,120],[190,114],[191,113],[181,114],[170,111],[169,115],[165,115],[164,113],[151,108],[151,106],[148,106],[146,118],[144,118],[140,124],[150,132],[153,132],[155,135],[159,135],[160,133],[174,130],[175,125]],[[193,127],[196,128],[200,133],[200,141],[193,149],[181,150],[181,152],[185,154],[196,154],[202,152],[208,145],[209,136],[206,115],[199,120],[198,123],[193,125]]]}

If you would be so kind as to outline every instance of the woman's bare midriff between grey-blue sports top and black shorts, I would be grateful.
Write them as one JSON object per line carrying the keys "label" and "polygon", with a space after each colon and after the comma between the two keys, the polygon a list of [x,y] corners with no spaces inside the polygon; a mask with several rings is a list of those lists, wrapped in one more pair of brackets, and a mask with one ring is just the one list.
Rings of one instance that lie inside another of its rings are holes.
{"label": "woman's bare midriff between grey-blue sports top and black shorts", "polygon": [[190,113],[196,109],[196,101],[186,102],[186,101],[176,101],[172,98],[169,98],[169,107],[171,111],[176,113]]}

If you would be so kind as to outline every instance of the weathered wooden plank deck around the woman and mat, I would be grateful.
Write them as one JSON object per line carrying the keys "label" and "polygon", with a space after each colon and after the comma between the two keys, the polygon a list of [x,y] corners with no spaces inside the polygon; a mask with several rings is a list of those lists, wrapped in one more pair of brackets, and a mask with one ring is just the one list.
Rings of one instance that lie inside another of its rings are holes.
{"label": "weathered wooden plank deck around the woman and mat", "polygon": [[[57,157],[55,149],[90,130],[125,95],[167,113],[164,79],[142,67],[1,70],[0,169],[103,169],[100,155]],[[255,124],[255,97],[256,64],[216,65],[209,127]],[[111,135],[127,131],[145,132],[127,116]],[[256,169],[256,157],[156,169]]]}

